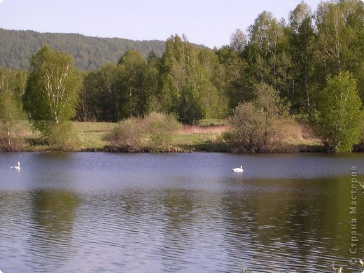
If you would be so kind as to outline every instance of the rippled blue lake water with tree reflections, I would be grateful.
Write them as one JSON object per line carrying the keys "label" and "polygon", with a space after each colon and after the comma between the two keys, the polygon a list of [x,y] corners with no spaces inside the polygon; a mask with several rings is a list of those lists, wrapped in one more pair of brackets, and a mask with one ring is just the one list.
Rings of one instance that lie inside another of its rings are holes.
{"label": "rippled blue lake water with tree reflections", "polygon": [[0,270],[361,272],[352,167],[364,180],[363,154],[0,153]]}

